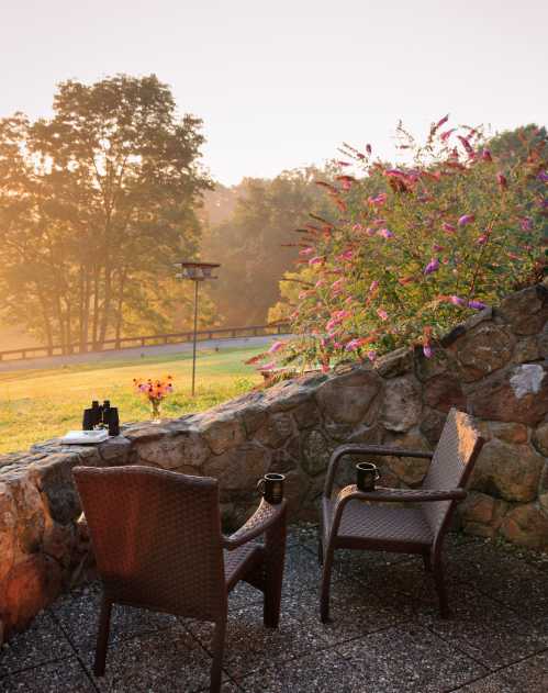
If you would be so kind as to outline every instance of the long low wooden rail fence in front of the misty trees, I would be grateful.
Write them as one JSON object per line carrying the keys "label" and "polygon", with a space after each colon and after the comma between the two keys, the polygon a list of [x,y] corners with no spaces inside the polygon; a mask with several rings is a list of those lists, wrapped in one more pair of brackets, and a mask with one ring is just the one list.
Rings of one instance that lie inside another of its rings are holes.
{"label": "long low wooden rail fence in front of the misty trees", "polygon": [[[214,329],[201,329],[197,333],[198,339],[214,339],[216,337],[235,339],[236,337],[259,337],[266,335],[281,335],[288,331],[289,325],[249,325],[247,327],[221,327]],[[137,337],[121,337],[120,339],[105,339],[101,345],[87,342],[81,344],[70,344],[63,348],[61,345],[24,347],[22,349],[8,349],[0,351],[0,361],[10,360],[19,361],[29,358],[38,358],[44,356],[67,356],[69,354],[93,354],[98,351],[118,351],[119,349],[127,349],[144,346],[158,346],[164,344],[184,344],[192,342],[192,331],[171,332],[163,335],[139,335]],[[107,346],[112,345],[112,346]],[[107,346],[107,348],[104,348]]]}

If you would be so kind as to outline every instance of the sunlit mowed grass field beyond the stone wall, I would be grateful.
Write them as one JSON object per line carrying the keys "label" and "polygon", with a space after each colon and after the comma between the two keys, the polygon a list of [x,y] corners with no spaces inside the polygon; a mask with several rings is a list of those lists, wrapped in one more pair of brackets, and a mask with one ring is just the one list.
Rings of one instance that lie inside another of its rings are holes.
{"label": "sunlit mowed grass field beyond the stone wall", "polygon": [[192,355],[188,351],[0,372],[0,452],[24,450],[33,443],[81,428],[82,411],[91,406],[91,400],[110,400],[119,407],[121,423],[148,418],[149,404],[134,392],[134,378],[174,377],[175,392],[164,401],[163,416],[215,406],[262,380],[244,364],[260,351],[257,346],[199,351],[194,399],[190,396]]}

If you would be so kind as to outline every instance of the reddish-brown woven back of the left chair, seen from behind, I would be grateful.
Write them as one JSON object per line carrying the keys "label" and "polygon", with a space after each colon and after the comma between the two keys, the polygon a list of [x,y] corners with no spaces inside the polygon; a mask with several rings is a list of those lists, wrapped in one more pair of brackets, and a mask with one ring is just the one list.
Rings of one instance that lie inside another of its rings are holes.
{"label": "reddish-brown woven back of the left chair, seen from behind", "polygon": [[147,467],[74,474],[108,599],[212,621],[226,611],[214,479]]}

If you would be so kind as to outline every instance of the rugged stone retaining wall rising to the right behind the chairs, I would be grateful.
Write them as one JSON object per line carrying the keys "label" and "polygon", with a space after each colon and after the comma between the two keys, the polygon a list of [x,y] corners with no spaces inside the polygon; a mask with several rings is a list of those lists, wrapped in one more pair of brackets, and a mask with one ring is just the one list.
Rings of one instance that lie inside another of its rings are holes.
{"label": "rugged stone retaining wall rising to the right behind the chairs", "polygon": [[[280,471],[292,516],[310,518],[337,445],[432,448],[450,406],[477,416],[488,439],[460,506],[463,530],[548,549],[547,317],[548,290],[539,284],[456,327],[430,359],[399,349],[374,365],[287,381],[202,414],[127,425],[97,447],[49,440],[0,458],[0,621],[7,630],[24,627],[86,573],[77,465],[215,477],[227,526],[256,506],[257,479]],[[387,458],[382,482],[417,485],[427,465]]]}

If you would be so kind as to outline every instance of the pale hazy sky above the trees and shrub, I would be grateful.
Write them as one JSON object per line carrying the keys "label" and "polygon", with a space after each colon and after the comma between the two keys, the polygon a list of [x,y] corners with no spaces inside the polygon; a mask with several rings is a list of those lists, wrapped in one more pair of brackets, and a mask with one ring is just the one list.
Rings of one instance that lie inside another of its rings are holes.
{"label": "pale hazy sky above the trees and shrub", "polygon": [[204,121],[224,183],[392,156],[401,118],[547,124],[541,0],[1,0],[0,115],[51,113],[55,83],[155,72]]}

